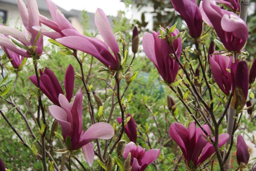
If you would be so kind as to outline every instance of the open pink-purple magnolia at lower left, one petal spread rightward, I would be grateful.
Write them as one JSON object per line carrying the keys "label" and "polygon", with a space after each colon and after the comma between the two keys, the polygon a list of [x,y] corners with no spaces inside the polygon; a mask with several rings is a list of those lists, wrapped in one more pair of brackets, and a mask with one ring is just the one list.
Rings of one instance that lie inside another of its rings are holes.
{"label": "open pink-purple magnolia at lower left, one petal spread rightward", "polygon": [[[97,138],[108,140],[114,135],[113,127],[108,123],[95,123],[86,131],[83,130],[83,95],[81,89],[76,93],[72,105],[63,94],[59,94],[60,106],[49,106],[49,112],[61,125],[65,142],[70,138],[69,150],[82,149],[84,158],[92,166],[94,159],[92,140]],[[67,145],[67,144],[66,144]]]}

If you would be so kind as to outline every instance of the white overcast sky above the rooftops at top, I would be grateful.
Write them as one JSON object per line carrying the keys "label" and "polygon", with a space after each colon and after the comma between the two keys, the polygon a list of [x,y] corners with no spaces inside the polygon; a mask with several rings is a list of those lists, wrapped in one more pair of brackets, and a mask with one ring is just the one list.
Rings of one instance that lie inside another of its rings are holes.
{"label": "white overcast sky above the rooftops at top", "polygon": [[125,9],[125,4],[120,0],[52,0],[61,8],[69,11],[70,9],[86,10],[95,12],[101,8],[107,15],[116,16],[118,10]]}

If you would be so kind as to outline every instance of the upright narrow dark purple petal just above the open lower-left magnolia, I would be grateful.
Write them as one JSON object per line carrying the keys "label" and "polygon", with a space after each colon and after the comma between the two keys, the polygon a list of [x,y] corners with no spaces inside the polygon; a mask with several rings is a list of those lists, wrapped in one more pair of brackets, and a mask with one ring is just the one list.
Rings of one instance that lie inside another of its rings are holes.
{"label": "upright narrow dark purple petal just above the open lower-left magnolia", "polygon": [[74,81],[75,81],[75,71],[74,71],[73,66],[70,64],[67,67],[67,71],[65,74],[65,80],[64,80],[66,97],[69,102],[71,101],[71,98],[73,96]]}

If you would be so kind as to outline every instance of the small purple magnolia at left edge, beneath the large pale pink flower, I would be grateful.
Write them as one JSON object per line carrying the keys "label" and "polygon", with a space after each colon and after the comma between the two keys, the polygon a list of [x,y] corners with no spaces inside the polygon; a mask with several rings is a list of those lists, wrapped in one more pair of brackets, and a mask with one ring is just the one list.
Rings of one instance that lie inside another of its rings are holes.
{"label": "small purple magnolia at left edge, beneath the large pale pink flower", "polygon": [[[0,37],[7,37],[8,38],[8,36],[5,36],[3,34],[0,34]],[[24,57],[21,57],[19,54],[15,53],[14,51],[11,51],[8,48],[5,48],[3,46],[0,46],[0,47],[6,53],[7,57],[9,58],[9,60],[11,60],[13,68],[16,68],[16,69],[19,68],[21,63],[22,63],[22,61],[23,61],[23,59],[24,59]]]}

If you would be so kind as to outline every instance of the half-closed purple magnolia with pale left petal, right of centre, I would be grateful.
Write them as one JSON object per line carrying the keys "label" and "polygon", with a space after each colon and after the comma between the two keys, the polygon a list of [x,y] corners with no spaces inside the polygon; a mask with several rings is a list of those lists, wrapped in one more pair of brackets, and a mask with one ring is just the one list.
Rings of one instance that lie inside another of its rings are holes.
{"label": "half-closed purple magnolia with pale left petal, right of centre", "polygon": [[[161,28],[163,31],[164,28]],[[171,34],[172,36],[178,35],[180,32],[177,28]],[[173,83],[179,70],[179,64],[176,60],[170,57],[173,54],[171,46],[163,39],[159,38],[160,31],[157,33],[152,31],[152,34],[145,33],[142,40],[143,50],[147,57],[154,63],[159,74],[168,83]],[[181,37],[173,42],[173,47],[178,59],[181,54]]]}

